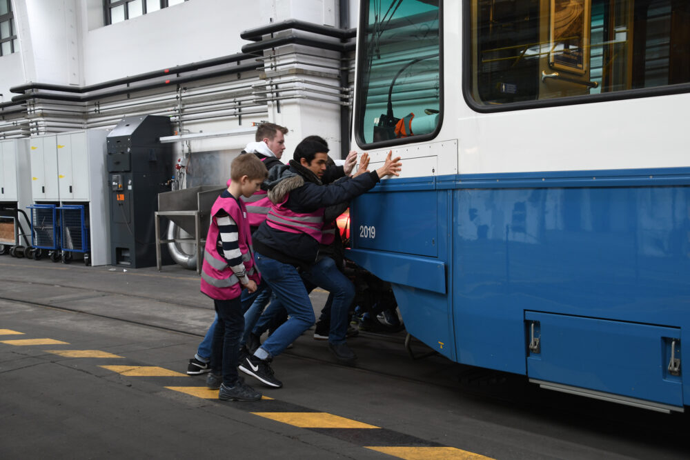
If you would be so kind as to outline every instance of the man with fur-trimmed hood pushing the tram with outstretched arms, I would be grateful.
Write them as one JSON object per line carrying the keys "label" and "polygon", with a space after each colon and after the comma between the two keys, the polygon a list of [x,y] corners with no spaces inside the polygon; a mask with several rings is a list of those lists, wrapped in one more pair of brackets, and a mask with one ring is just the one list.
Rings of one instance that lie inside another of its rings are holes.
{"label": "man with fur-trimmed hood pushing the tram with outstretched arms", "polygon": [[347,181],[323,185],[328,148],[304,140],[295,148],[289,166],[271,170],[268,196],[274,206],[253,234],[255,261],[263,279],[283,303],[290,319],[282,324],[256,352],[239,364],[239,369],[268,386],[279,388],[269,362],[314,322],[314,310],[299,270],[308,271],[317,260],[324,208],[334,206],[373,188],[382,177],[398,175],[400,157],[384,166]]}

